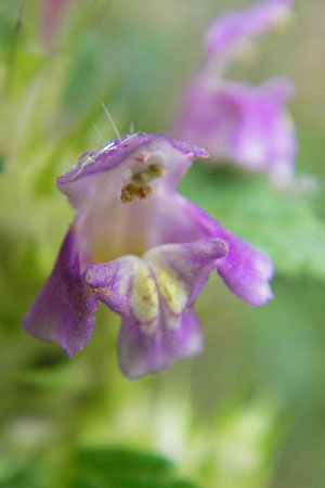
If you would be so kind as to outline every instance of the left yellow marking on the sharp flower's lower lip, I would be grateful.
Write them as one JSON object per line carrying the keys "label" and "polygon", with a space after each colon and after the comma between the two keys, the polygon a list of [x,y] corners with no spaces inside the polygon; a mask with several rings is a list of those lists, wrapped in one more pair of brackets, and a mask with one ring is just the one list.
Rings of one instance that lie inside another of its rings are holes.
{"label": "left yellow marking on the sharp flower's lower lip", "polygon": [[132,306],[135,317],[150,322],[159,313],[159,297],[155,280],[145,269],[140,269],[133,281]]}

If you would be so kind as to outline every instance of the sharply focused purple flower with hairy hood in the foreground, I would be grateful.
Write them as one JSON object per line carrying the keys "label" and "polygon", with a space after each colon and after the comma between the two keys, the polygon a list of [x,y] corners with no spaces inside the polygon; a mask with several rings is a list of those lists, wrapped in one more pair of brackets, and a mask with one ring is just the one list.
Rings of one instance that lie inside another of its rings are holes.
{"label": "sharply focused purple flower with hairy hood in the foreground", "polygon": [[192,310],[211,270],[251,305],[272,297],[272,261],[176,192],[206,151],[135,133],[83,154],[57,179],[76,218],[23,328],[69,356],[89,342],[98,300],[122,318],[128,377],[200,352]]}

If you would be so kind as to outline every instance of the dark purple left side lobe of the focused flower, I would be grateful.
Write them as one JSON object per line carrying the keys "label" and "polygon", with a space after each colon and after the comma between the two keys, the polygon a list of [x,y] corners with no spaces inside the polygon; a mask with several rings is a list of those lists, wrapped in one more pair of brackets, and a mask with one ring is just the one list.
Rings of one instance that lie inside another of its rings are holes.
{"label": "dark purple left side lobe of the focused flower", "polygon": [[94,328],[96,299],[80,277],[78,241],[70,228],[54,269],[26,313],[22,326],[46,342],[57,342],[69,356],[87,346]]}

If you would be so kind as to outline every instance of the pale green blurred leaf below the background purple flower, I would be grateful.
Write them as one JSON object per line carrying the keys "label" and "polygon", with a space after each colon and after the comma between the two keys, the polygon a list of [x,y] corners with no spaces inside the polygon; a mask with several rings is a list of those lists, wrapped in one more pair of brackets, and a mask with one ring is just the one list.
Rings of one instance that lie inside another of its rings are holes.
{"label": "pale green blurred leaf below the background purple flower", "polygon": [[263,177],[196,165],[181,193],[240,237],[266,253],[288,275],[325,278],[325,222],[311,197],[285,194]]}

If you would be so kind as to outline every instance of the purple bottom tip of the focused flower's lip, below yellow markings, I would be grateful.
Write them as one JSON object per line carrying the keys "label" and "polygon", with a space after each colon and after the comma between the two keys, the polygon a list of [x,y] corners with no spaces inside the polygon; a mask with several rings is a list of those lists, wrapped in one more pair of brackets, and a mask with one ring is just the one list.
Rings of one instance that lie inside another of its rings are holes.
{"label": "purple bottom tip of the focused flower's lip, below yellow markings", "polygon": [[204,338],[199,323],[190,309],[182,314],[177,331],[159,324],[155,334],[144,335],[139,322],[123,319],[118,337],[119,365],[129,378],[155,373],[180,357],[202,352]]}

